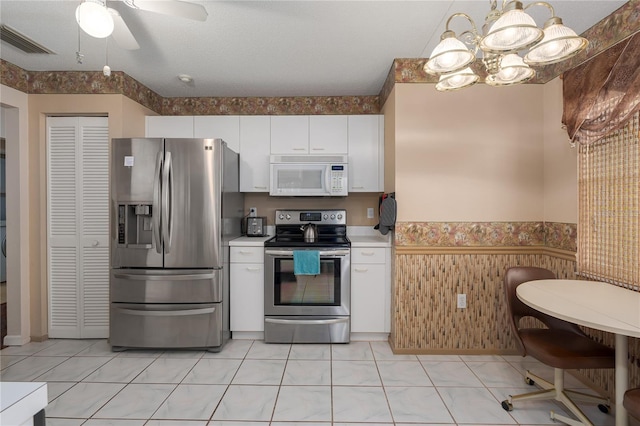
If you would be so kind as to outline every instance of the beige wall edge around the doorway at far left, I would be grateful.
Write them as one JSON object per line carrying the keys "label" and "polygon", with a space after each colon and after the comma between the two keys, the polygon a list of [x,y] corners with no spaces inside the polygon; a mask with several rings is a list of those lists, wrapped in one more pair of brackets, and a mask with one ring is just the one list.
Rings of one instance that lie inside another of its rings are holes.
{"label": "beige wall edge around the doorway at far left", "polygon": [[29,98],[0,85],[4,110],[7,177],[7,336],[6,345],[29,342]]}

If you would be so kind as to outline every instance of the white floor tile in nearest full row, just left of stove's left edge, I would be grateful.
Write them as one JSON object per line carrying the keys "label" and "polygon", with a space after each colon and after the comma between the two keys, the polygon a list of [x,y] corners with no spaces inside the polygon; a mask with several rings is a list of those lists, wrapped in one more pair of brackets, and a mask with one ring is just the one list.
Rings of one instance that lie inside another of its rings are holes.
{"label": "white floor tile in nearest full row, just left of stove's left edge", "polygon": [[269,421],[278,386],[229,386],[213,420]]}

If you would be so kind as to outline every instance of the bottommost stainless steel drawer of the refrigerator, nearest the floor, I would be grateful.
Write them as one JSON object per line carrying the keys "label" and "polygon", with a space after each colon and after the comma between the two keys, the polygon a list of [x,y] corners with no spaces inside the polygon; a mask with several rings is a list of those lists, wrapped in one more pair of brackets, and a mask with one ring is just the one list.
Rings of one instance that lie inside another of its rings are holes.
{"label": "bottommost stainless steel drawer of the refrigerator, nearest the floor", "polygon": [[222,304],[111,304],[109,342],[119,348],[221,346]]}

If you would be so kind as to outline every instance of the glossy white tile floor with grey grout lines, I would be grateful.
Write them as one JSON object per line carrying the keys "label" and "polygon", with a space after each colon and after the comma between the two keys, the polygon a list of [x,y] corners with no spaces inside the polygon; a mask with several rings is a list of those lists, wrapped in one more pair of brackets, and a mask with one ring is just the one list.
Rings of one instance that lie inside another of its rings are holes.
{"label": "glossy white tile floor with grey grout lines", "polygon": [[[52,339],[5,348],[0,361],[2,381],[48,383],[49,426],[529,426],[554,424],[549,411],[562,411],[553,401],[501,408],[531,391],[525,369],[553,376],[532,358],[394,355],[386,342],[114,353],[105,340]],[[595,405],[583,409],[596,426],[615,423]]]}

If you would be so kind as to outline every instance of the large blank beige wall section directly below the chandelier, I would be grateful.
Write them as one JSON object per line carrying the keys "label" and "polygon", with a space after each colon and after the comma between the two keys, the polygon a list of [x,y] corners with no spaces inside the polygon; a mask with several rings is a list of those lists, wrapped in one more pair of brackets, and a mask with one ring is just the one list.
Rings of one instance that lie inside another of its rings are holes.
{"label": "large blank beige wall section directly below the chandelier", "polygon": [[398,221],[543,219],[543,90],[395,86]]}

